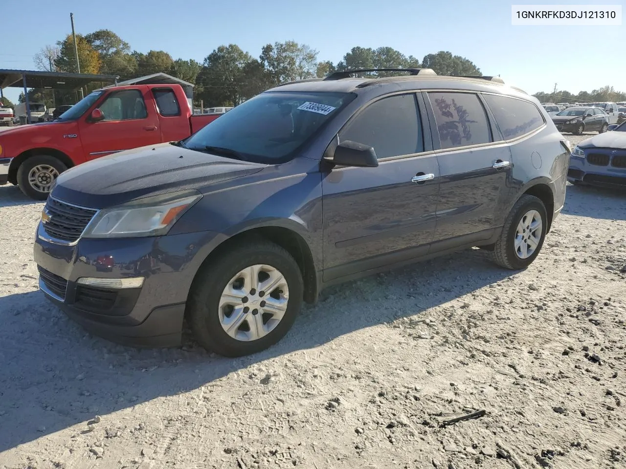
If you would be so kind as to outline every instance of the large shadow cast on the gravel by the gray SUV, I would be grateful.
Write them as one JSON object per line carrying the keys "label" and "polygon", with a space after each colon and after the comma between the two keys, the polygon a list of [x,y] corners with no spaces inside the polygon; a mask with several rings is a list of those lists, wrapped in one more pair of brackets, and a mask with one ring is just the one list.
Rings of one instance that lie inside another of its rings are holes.
{"label": "large shadow cast on the gravel by the gray SUV", "polygon": [[[253,363],[417,315],[510,275],[484,251],[468,250],[334,286],[322,292],[317,306],[303,308],[277,345],[238,359],[210,355],[190,340],[169,350],[115,345],[86,333],[39,291],[1,297],[0,421],[6,425],[0,425],[0,453],[95,415],[103,416],[98,425],[106,426],[106,415],[117,410],[195,390]],[[262,378],[254,378],[258,386],[264,385]],[[86,425],[77,432],[84,430]]]}

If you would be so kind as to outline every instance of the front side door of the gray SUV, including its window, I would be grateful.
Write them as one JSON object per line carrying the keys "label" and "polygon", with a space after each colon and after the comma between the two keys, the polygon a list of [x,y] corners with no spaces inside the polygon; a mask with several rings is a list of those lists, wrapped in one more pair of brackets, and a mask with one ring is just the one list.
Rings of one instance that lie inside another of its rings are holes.
{"label": "front side door of the gray SUV, including its window", "polygon": [[322,173],[324,281],[428,252],[439,168],[421,96],[394,94],[359,109],[337,141],[372,146],[377,168]]}

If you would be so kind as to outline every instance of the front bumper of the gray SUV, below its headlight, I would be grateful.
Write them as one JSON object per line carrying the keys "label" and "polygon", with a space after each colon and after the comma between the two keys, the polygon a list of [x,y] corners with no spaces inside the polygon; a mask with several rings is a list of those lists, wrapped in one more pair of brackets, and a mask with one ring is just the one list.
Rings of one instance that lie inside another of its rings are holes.
{"label": "front bumper of the gray SUV, below its headlight", "polygon": [[[39,223],[34,260],[39,288],[91,333],[134,346],[177,346],[185,302],[210,233],[85,239],[62,245]],[[141,288],[94,288],[79,278],[143,277]]]}

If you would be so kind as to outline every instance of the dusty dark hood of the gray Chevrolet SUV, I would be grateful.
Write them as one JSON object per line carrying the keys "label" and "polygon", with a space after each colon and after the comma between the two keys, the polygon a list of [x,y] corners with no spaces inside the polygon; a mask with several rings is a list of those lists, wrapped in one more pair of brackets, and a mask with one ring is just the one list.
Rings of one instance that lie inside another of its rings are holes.
{"label": "dusty dark hood of the gray Chevrolet SUV", "polygon": [[182,189],[203,192],[210,184],[258,173],[265,166],[162,143],[103,156],[64,171],[52,195],[68,203],[106,208]]}

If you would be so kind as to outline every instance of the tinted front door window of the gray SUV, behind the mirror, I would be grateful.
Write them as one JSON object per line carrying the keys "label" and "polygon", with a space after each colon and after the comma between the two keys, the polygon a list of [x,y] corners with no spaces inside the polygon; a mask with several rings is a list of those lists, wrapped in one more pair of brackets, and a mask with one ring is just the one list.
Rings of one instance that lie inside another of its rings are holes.
{"label": "tinted front door window of the gray SUV, behind the mirror", "polygon": [[339,133],[339,141],[346,140],[373,147],[378,158],[424,151],[415,94],[390,96],[370,104]]}

